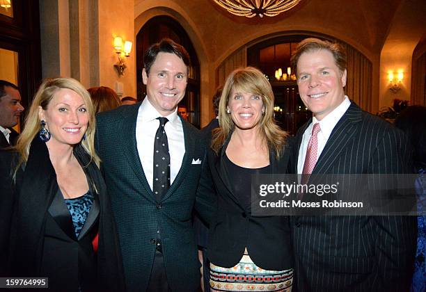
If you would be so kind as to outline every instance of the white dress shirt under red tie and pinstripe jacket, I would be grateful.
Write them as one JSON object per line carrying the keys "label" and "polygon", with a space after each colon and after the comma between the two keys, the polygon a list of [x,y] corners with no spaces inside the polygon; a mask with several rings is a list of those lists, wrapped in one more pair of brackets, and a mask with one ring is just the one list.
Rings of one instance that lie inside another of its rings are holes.
{"label": "white dress shirt under red tie and pinstripe jacket", "polygon": [[299,157],[297,159],[297,173],[301,174],[303,172],[303,164],[305,163],[306,151],[308,150],[308,143],[312,134],[313,124],[319,122],[319,128],[321,128],[321,131],[319,131],[318,133],[317,158],[319,158],[322,153],[322,150],[324,149],[327,141],[329,140],[331,131],[333,131],[334,127],[336,127],[336,124],[342,118],[342,116],[345,115],[350,105],[351,102],[349,101],[349,97],[345,95],[345,99],[343,99],[343,102],[339,104],[339,106],[335,108],[331,113],[326,115],[324,119],[319,121],[315,117],[312,118],[312,123],[310,123],[308,128],[306,128],[305,132],[303,133],[302,141],[299,148]]}

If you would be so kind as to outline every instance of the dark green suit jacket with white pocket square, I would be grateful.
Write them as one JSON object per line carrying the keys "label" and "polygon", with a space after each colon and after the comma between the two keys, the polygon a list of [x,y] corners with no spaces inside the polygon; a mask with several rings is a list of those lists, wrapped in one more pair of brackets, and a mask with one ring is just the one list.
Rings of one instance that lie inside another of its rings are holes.
{"label": "dark green suit jacket with white pocket square", "polygon": [[[202,168],[207,165],[205,146],[198,129],[180,118],[185,142],[182,166],[157,202],[136,147],[140,105],[120,106],[97,115],[96,147],[117,220],[127,288],[147,288],[159,229],[169,286],[172,291],[194,291],[200,286],[200,261],[192,211],[195,205],[206,220],[214,211],[214,197],[196,195]],[[198,159],[201,163],[196,163]]]}

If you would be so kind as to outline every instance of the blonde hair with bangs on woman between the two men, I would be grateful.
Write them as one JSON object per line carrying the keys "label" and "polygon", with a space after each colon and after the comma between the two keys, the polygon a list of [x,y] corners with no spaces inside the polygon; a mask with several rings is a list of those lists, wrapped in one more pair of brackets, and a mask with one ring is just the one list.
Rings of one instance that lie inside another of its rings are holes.
{"label": "blonde hair with bangs on woman between the two men", "polygon": [[251,92],[262,97],[265,113],[259,122],[260,133],[269,149],[274,150],[278,158],[283,150],[288,134],[281,130],[274,120],[274,92],[272,92],[271,83],[255,67],[234,70],[226,79],[219,102],[220,128],[213,131],[212,149],[218,154],[226,138],[228,138],[229,134],[235,128],[234,122],[226,112],[232,89],[240,92]]}

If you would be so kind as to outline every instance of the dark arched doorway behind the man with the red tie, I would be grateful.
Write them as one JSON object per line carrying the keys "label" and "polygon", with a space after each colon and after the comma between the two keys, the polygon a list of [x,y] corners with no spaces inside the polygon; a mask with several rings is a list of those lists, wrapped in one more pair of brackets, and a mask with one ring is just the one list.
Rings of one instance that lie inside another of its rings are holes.
{"label": "dark arched doorway behind the man with the red tie", "polygon": [[[372,63],[361,52],[349,44],[318,33],[282,35],[269,38],[247,47],[247,65],[258,67],[267,75],[274,90],[274,113],[278,124],[296,133],[312,115],[299,97],[296,76],[290,69],[290,58],[297,44],[306,38],[321,38],[338,42],[347,54],[347,85],[345,93],[365,111],[371,109]],[[281,76],[275,76],[281,69]],[[289,70],[290,69],[290,70]],[[288,70],[288,71],[287,71]],[[290,74],[288,74],[290,73]]]}

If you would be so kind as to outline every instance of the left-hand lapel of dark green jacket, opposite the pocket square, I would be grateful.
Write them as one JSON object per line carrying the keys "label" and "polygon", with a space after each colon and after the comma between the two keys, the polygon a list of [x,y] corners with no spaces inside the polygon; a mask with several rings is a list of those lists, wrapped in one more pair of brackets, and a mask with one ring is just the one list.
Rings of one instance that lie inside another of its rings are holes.
{"label": "left-hand lapel of dark green jacket, opposite the pocket square", "polygon": [[[140,106],[141,104],[139,104]],[[138,117],[139,106],[134,106],[133,111],[127,112],[126,115],[123,115],[123,120],[120,124],[119,133],[121,133],[123,141],[123,146],[125,148],[125,156],[129,165],[131,166],[136,177],[139,178],[141,184],[145,188],[146,193],[150,194],[148,197],[149,200],[155,202],[155,197],[152,194],[148,180],[145,177],[145,172],[143,172],[141,159],[139,158],[138,147],[136,145],[136,119]],[[118,149],[117,149],[118,151]],[[145,192],[142,192],[145,193]]]}

